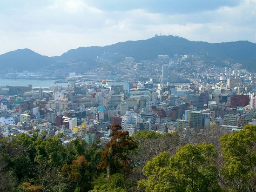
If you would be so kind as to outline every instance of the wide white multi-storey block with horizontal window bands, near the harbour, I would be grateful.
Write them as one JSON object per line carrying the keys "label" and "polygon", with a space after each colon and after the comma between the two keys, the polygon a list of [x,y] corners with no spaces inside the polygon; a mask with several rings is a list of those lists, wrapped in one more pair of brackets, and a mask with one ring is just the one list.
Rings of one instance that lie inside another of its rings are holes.
{"label": "wide white multi-storey block with horizontal window bands, near the harbour", "polygon": [[130,89],[130,98],[140,100],[141,96],[148,101],[151,100],[151,90],[143,86],[143,84],[138,83],[137,88]]}

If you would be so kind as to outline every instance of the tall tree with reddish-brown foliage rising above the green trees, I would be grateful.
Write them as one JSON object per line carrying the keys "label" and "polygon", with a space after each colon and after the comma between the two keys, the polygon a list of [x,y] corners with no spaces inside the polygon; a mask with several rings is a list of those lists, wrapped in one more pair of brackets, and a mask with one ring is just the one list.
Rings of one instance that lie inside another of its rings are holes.
{"label": "tall tree with reddish-brown foliage rising above the green trees", "polygon": [[122,127],[114,125],[111,127],[111,140],[105,150],[101,153],[101,162],[97,168],[107,170],[109,174],[117,172],[129,172],[134,162],[130,162],[128,155],[134,151],[138,145],[129,136],[128,131],[121,131]]}

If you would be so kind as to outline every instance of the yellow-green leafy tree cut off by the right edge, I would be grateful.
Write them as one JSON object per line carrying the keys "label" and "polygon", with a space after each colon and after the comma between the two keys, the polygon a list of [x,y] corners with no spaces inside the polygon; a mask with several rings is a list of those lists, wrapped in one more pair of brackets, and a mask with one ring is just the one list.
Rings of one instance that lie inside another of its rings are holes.
{"label": "yellow-green leafy tree cut off by the right edge", "polygon": [[253,192],[256,189],[256,126],[225,134],[221,138],[225,166],[224,179],[231,189]]}

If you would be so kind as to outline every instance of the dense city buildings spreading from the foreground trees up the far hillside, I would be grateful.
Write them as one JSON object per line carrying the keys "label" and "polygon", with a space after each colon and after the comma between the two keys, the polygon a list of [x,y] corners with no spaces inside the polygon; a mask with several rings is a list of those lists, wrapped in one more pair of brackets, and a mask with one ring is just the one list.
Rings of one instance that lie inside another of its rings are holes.
{"label": "dense city buildings spreading from the foreground trees up the far hillside", "polygon": [[[91,144],[108,139],[107,128],[115,124],[130,135],[141,130],[209,132],[212,125],[230,133],[256,125],[256,73],[241,63],[209,68],[199,56],[177,54],[141,63],[133,57],[120,63],[97,59],[105,65],[52,79],[58,86],[0,86],[2,136],[39,129],[52,136],[63,132],[67,140],[87,138]],[[2,78],[38,75],[7,73]]]}

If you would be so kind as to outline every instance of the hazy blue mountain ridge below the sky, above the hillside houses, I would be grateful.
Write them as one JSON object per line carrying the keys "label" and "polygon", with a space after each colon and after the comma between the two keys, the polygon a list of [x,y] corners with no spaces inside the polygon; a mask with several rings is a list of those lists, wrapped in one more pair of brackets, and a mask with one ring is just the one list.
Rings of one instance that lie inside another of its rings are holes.
{"label": "hazy blue mountain ridge below the sky, above the hillside houses", "polygon": [[30,49],[18,49],[0,55],[0,67],[13,68],[18,71],[34,71],[44,67],[61,66],[63,63],[82,62],[92,67],[96,57],[102,53],[118,53],[119,59],[134,57],[135,61],[153,60],[158,55],[194,54],[209,60],[229,60],[241,62],[243,68],[256,71],[256,44],[249,41],[227,43],[208,43],[189,41],[177,36],[156,36],[148,40],[126,41],[109,46],[79,47],[63,53],[61,56],[47,57]]}

